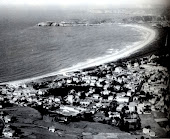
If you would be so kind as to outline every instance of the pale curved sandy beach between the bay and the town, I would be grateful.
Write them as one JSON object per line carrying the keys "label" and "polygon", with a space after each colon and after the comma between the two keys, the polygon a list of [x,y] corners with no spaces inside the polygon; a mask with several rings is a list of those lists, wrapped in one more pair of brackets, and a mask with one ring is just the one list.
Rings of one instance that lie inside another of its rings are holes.
{"label": "pale curved sandy beach between the bay and the town", "polygon": [[0,83],[0,85],[22,84],[22,83],[30,82],[30,81],[33,81],[33,80],[43,79],[43,78],[46,78],[46,77],[57,76],[57,75],[61,75],[61,74],[65,75],[67,72],[74,72],[74,71],[85,69],[85,68],[88,68],[88,67],[99,66],[101,64],[114,62],[118,59],[130,56],[131,54],[133,54],[137,50],[140,50],[141,48],[143,48],[146,45],[148,45],[149,43],[151,43],[154,40],[154,38],[156,37],[156,31],[151,29],[151,28],[144,27],[144,26],[141,26],[141,25],[133,25],[133,24],[124,25],[124,26],[135,27],[135,28],[138,28],[139,30],[146,31],[147,32],[147,34],[145,36],[146,39],[144,39],[141,42],[134,43],[130,47],[125,47],[123,50],[118,51],[117,53],[105,55],[105,56],[102,56],[102,57],[99,57],[99,58],[92,59],[92,60],[87,61],[87,62],[81,62],[81,63],[78,63],[78,64],[72,66],[72,67],[65,68],[65,69],[62,69],[62,70],[57,71],[57,72],[45,74],[45,75],[42,75],[42,76],[27,78],[27,79],[3,82],[3,83]]}

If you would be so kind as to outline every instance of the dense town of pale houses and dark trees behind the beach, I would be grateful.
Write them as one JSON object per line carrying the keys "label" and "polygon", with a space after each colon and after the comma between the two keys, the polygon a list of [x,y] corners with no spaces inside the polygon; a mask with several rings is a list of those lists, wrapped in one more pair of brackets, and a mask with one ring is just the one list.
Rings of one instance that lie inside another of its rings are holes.
{"label": "dense town of pale houses and dark trees behind the beach", "polygon": [[[125,132],[142,130],[141,136],[146,138],[157,137],[157,132],[149,123],[143,127],[143,115],[160,112],[166,115],[163,129],[168,133],[169,74],[161,62],[168,57],[169,54],[149,55],[66,73],[50,81],[1,85],[2,135],[19,136],[20,131],[10,126],[16,117],[3,110],[11,105],[34,108],[52,122],[89,121]],[[56,132],[55,126],[47,129]]]}

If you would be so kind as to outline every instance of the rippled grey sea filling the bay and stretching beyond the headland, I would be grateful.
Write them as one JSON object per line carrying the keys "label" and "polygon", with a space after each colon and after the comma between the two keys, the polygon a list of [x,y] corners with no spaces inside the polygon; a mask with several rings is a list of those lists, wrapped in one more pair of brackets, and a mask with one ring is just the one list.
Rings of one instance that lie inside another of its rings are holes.
{"label": "rippled grey sea filling the bay and stretching beyond the headland", "polygon": [[38,27],[43,21],[114,19],[111,14],[66,9],[1,7],[0,82],[32,78],[113,54],[144,39],[141,30],[117,23]]}

